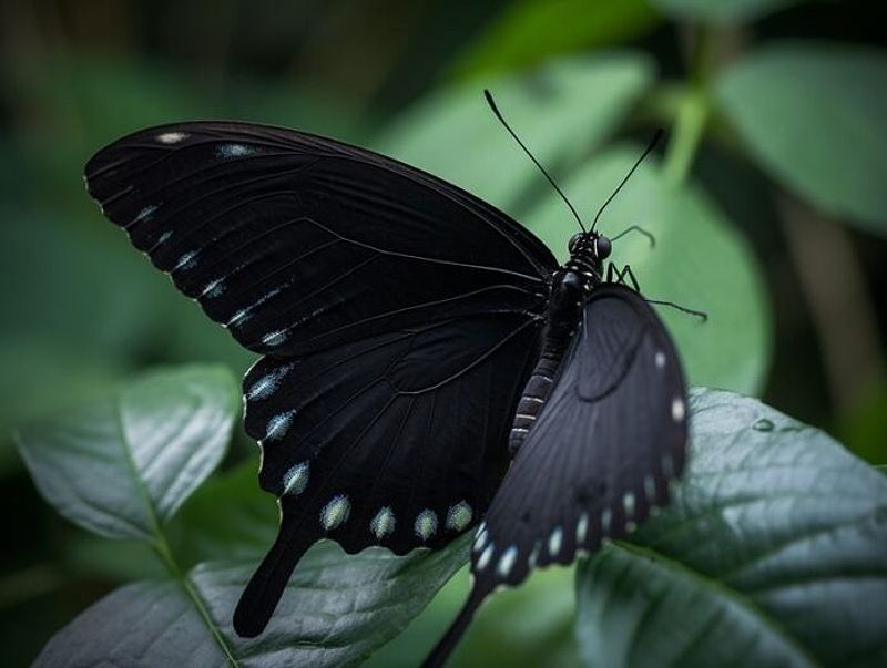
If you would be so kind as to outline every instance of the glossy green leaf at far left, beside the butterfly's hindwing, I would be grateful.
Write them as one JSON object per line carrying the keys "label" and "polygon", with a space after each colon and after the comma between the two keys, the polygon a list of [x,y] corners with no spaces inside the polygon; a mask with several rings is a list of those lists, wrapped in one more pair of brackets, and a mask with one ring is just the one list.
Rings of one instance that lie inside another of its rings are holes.
{"label": "glossy green leaf at far left, beside the butterfly's hindwing", "polygon": [[225,369],[159,371],[17,441],[59,513],[103,536],[153,541],[221,461],[237,404]]}

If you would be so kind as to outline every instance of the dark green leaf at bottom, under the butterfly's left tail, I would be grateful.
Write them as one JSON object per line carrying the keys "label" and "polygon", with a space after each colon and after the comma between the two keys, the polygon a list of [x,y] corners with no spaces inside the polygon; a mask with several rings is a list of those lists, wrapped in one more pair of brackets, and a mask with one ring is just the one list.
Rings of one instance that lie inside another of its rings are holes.
{"label": "dark green leaf at bottom, under the butterfly's left tail", "polygon": [[406,557],[376,547],[346,556],[324,542],[305,555],[254,639],[231,626],[252,567],[210,563],[181,583],[129,585],[62,629],[34,666],[354,666],[425,607],[465,563],[469,541]]}

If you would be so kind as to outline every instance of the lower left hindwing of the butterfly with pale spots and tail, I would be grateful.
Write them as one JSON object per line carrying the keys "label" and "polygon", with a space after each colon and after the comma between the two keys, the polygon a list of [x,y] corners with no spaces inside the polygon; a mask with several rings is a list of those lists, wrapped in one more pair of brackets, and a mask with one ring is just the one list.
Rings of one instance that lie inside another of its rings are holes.
{"label": "lower left hindwing of the butterfly with pale spots and tail", "polygon": [[503,443],[538,329],[482,316],[254,367],[245,424],[283,525],[241,599],[238,633],[264,628],[319,538],[405,554],[442,547],[478,521],[508,464]]}

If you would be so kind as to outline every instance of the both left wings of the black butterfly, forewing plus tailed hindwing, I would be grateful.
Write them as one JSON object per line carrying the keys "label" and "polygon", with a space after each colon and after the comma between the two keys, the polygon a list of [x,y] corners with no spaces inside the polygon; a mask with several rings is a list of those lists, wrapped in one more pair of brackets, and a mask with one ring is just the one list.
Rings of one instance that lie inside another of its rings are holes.
{"label": "both left wings of the black butterfly, forewing plus tailed hindwing", "polygon": [[555,261],[520,225],[428,174],[243,123],[115,142],[89,192],[246,348],[261,482],[281,532],[235,615],[261,633],[302,554],[441,546],[506,467]]}

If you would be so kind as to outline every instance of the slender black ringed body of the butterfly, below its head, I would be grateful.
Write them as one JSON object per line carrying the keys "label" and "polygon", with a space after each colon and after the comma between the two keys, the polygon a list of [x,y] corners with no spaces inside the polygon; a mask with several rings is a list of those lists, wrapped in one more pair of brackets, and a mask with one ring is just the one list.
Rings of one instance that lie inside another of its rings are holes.
{"label": "slender black ringed body of the butterfly, below its head", "polygon": [[575,271],[561,269],[554,274],[551,286],[546,329],[542,332],[542,352],[530,379],[521,392],[508,449],[513,458],[527,434],[542,412],[554,384],[563,353],[575,333],[582,315],[582,278]]}

